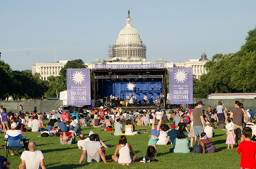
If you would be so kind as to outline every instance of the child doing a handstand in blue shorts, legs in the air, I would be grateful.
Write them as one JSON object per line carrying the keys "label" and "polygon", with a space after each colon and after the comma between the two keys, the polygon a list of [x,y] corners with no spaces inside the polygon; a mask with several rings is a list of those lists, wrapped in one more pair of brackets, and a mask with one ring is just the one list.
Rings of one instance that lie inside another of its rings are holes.
{"label": "child doing a handstand in blue shorts, legs in the air", "polygon": [[147,145],[147,153],[146,157],[157,157],[157,147],[155,146],[158,139],[158,136],[160,134],[160,126],[162,124],[162,116],[160,116],[159,123],[157,125],[157,130],[155,130],[155,115],[153,116],[153,123],[151,127],[151,138],[148,141]]}

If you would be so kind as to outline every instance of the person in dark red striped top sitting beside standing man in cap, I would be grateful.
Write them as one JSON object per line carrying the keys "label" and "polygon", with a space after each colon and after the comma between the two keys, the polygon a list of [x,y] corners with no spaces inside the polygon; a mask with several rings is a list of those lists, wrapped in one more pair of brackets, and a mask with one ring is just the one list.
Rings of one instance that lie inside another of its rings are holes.
{"label": "person in dark red striped top sitting beside standing man in cap", "polygon": [[203,153],[215,153],[216,147],[212,144],[211,139],[207,137],[205,132],[202,132],[199,144],[202,146]]}

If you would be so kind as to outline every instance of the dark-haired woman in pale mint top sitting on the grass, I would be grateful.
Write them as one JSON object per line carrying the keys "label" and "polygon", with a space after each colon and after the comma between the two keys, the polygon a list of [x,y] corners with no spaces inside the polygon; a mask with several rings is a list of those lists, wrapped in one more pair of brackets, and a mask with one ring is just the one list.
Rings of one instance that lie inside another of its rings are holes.
{"label": "dark-haired woman in pale mint top sitting on the grass", "polygon": [[173,142],[173,148],[170,151],[174,153],[190,153],[189,142],[183,131],[178,132]]}

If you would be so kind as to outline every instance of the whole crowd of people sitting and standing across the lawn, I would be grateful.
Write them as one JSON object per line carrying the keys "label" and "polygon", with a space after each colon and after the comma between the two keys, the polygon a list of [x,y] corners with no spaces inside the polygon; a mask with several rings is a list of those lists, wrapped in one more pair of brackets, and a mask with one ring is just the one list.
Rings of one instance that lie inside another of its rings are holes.
{"label": "whole crowd of people sitting and standing across the lawn", "polygon": [[[114,131],[112,135],[120,135],[119,143],[116,147],[112,159],[114,162],[122,165],[129,165],[135,162],[137,155],[132,149],[132,146],[127,142],[125,135],[139,134],[139,131],[135,130],[136,126],[151,126],[151,135],[147,145],[146,157],[157,157],[156,145],[169,145],[172,144],[173,148],[169,151],[173,153],[190,153],[193,149],[193,145],[199,145],[202,147],[202,153],[214,153],[217,152],[216,147],[211,141],[211,137],[214,137],[214,128],[226,130],[226,144],[227,149],[231,145],[231,149],[234,146],[238,146],[238,153],[241,155],[241,167],[246,166],[248,168],[248,162],[245,165],[243,152],[246,147],[250,145],[254,147],[256,145],[247,143],[251,136],[256,135],[256,125],[252,120],[252,111],[244,110],[242,103],[235,102],[235,108],[231,111],[227,111],[224,104],[219,102],[216,109],[212,109],[211,105],[207,111],[202,110],[204,104],[202,101],[197,102],[194,108],[189,105],[187,110],[184,110],[182,105],[175,111],[160,110],[135,110],[135,111],[123,111],[121,108],[109,109],[108,107],[94,108],[92,111],[84,113],[81,110],[75,110],[73,112],[63,112],[62,107],[56,112],[40,113],[37,112],[37,107],[34,111],[23,112],[23,107],[20,105],[19,114],[7,113],[6,108],[1,105],[1,130],[6,134],[6,137],[14,137],[16,135],[22,135],[22,146],[25,147],[21,155],[20,168],[28,168],[27,166],[38,165],[41,168],[45,168],[44,155],[41,151],[36,150],[35,142],[28,142],[27,138],[23,138],[22,132],[39,132],[40,127],[44,131],[41,132],[41,137],[60,137],[60,144],[71,145],[77,143],[78,149],[82,149],[79,163],[81,163],[86,157],[87,162],[99,162],[103,161],[108,163],[105,158],[105,149],[111,148],[110,145],[106,146],[99,139],[99,135],[90,131],[89,137],[85,138],[81,132],[81,127],[92,126],[101,127],[102,131]],[[43,121],[50,120],[50,122],[44,126]],[[155,126],[155,122],[158,122]],[[170,127],[165,124],[168,121]],[[215,127],[214,122],[217,122]],[[125,126],[123,124],[126,123]],[[190,126],[188,129],[187,125]],[[226,125],[226,127],[225,127]],[[27,128],[26,128],[27,127]],[[31,127],[29,129],[28,127]],[[113,130],[114,129],[114,130]],[[188,132],[187,135],[184,132]],[[76,137],[79,137],[79,141],[76,141]],[[191,137],[190,143],[187,137]],[[256,137],[256,136],[255,136]],[[238,145],[238,139],[241,143]],[[243,142],[245,141],[245,142]],[[194,144],[195,142],[195,144]],[[248,145],[247,145],[248,144]],[[256,146],[255,146],[256,147]],[[253,149],[255,151],[255,149]],[[130,156],[130,151],[132,156]],[[251,152],[250,155],[252,155]],[[256,151],[255,151],[256,152]],[[119,157],[117,156],[119,153]],[[14,152],[12,151],[11,155]],[[36,157],[34,154],[37,154]],[[255,155],[256,153],[254,153]],[[9,167],[11,164],[6,158],[3,159],[3,166]],[[31,164],[35,161],[35,164]],[[255,161],[255,158],[254,158]],[[6,162],[4,164],[4,162]],[[0,162],[1,166],[1,162]],[[256,166],[254,167],[256,168]]]}

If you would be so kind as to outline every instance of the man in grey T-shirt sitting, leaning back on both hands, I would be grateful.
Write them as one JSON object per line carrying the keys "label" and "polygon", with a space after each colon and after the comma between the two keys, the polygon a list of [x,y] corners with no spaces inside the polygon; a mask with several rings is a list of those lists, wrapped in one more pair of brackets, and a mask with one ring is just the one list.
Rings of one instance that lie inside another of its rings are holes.
{"label": "man in grey T-shirt sitting, leaning back on both hands", "polygon": [[85,142],[83,145],[83,152],[78,163],[81,163],[86,156],[86,162],[100,162],[102,159],[104,163],[109,164],[105,157],[106,150],[101,149],[102,145],[96,139],[96,134],[90,135],[90,141]]}

